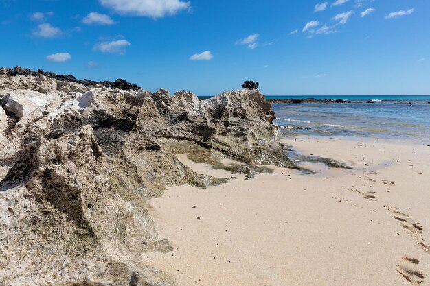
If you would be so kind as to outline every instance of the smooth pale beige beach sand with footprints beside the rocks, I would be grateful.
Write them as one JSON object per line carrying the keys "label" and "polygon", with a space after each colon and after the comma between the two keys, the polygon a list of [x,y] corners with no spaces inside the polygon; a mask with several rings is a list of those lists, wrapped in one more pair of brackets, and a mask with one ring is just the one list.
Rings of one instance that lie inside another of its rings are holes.
{"label": "smooth pale beige beach sand with footprints beside the rocks", "polygon": [[[173,187],[148,202],[174,251],[147,263],[178,286],[430,285],[430,147],[375,139],[285,139],[354,167],[304,175],[271,167],[209,189]],[[367,164],[367,165],[366,165]],[[194,207],[195,206],[195,207]],[[198,219],[199,218],[199,219]]]}

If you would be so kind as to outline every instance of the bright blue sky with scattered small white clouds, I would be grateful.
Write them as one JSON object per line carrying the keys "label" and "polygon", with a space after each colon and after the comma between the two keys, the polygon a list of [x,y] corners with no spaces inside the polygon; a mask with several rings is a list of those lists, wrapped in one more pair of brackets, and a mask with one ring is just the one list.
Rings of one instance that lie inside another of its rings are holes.
{"label": "bright blue sky with scattered small white clouds", "polygon": [[429,95],[429,0],[0,0],[0,66],[214,95]]}

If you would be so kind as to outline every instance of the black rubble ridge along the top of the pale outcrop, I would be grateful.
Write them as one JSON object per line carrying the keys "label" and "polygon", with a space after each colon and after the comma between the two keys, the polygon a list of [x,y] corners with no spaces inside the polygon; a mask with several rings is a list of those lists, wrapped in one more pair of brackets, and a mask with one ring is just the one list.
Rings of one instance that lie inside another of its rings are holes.
{"label": "black rubble ridge along the top of the pale outcrop", "polygon": [[30,69],[25,69],[23,67],[14,67],[14,69],[1,68],[0,75],[3,75],[3,76],[24,75],[24,76],[35,76],[35,77],[39,75],[45,75],[47,78],[54,78],[56,80],[61,80],[65,82],[76,82],[78,84],[83,84],[84,86],[96,86],[100,84],[102,86],[106,86],[107,88],[118,88],[124,91],[130,91],[130,90],[137,91],[139,89],[142,89],[136,84],[131,84],[130,82],[127,82],[126,80],[122,80],[122,79],[117,79],[115,80],[115,82],[109,82],[109,81],[95,82],[93,80],[86,80],[86,79],[78,80],[73,75],[58,75],[50,71],[45,72],[43,71],[43,69],[38,69],[38,71],[32,71]]}

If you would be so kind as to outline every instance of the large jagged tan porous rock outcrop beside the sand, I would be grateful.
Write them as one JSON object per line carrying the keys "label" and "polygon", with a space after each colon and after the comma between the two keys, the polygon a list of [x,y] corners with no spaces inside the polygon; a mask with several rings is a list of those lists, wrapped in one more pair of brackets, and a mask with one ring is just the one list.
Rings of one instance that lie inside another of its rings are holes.
{"label": "large jagged tan porous rock outcrop beside the sand", "polygon": [[146,210],[168,186],[208,187],[176,154],[292,163],[258,91],[199,101],[46,75],[0,75],[0,285],[174,285]]}

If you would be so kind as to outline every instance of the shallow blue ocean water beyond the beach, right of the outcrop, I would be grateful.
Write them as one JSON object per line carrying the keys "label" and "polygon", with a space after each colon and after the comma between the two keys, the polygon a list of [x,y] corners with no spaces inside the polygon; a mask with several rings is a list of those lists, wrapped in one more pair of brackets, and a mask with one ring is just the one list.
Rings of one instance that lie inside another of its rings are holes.
{"label": "shallow blue ocean water beyond the beach, right of the outcrop", "polygon": [[[310,96],[268,96],[268,99],[306,99]],[[356,136],[391,138],[430,144],[430,96],[354,95],[313,96],[314,99],[344,99],[363,103],[327,104],[273,103],[286,136]],[[368,100],[373,104],[366,103]],[[303,129],[297,129],[303,128]]]}

